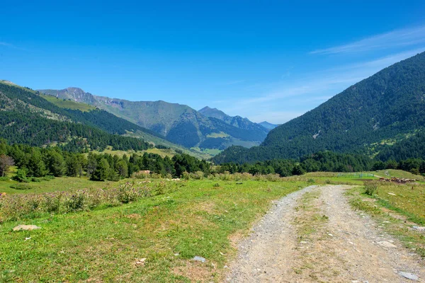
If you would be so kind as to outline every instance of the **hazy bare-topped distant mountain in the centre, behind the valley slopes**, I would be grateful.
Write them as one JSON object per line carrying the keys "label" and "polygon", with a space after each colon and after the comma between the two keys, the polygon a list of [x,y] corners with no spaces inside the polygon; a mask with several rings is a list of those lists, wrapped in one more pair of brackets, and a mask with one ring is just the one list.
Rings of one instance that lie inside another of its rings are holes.
{"label": "hazy bare-topped distant mountain in the centre, behind the valley slopes", "polygon": [[[167,140],[188,148],[225,149],[232,144],[251,147],[259,145],[266,137],[264,130],[253,131],[249,128],[235,127],[216,117],[205,117],[187,105],[166,103],[162,100],[129,101],[94,96],[81,88],[45,89],[40,92],[60,99],[93,105],[136,125],[151,129]],[[240,124],[244,123],[246,122],[241,118]]]}

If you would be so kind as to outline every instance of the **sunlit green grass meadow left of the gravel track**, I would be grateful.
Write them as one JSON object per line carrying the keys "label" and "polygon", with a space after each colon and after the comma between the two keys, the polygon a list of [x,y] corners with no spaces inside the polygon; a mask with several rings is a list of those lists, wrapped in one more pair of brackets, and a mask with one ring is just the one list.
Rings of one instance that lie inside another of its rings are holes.
{"label": "sunlit green grass meadow left of the gravel track", "polygon": [[[26,224],[42,227],[34,231],[12,232],[22,221],[4,222],[0,281],[219,282],[235,253],[229,238],[249,231],[271,200],[306,185],[237,183],[182,181],[120,207],[33,219]],[[193,262],[196,255],[207,262]]]}

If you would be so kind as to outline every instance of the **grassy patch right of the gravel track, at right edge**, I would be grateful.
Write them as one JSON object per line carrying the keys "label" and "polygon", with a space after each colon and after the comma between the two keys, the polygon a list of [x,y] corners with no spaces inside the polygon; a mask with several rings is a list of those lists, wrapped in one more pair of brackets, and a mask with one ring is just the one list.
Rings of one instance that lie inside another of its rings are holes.
{"label": "grassy patch right of the gravel track, at right edge", "polygon": [[425,185],[377,183],[378,190],[373,196],[365,195],[363,187],[349,190],[347,195],[351,197],[352,206],[373,216],[406,248],[425,256],[425,236],[413,229],[413,226],[425,226]]}

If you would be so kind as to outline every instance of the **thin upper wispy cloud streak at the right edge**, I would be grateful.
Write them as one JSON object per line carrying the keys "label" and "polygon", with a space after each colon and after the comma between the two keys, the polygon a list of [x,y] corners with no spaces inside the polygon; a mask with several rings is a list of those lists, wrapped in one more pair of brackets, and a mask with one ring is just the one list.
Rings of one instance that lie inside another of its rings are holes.
{"label": "thin upper wispy cloud streak at the right edge", "polygon": [[425,25],[416,28],[394,30],[390,33],[382,33],[372,37],[366,37],[346,45],[339,45],[320,50],[314,50],[310,54],[342,54],[365,52],[369,50],[383,50],[392,47],[406,47],[425,43]]}

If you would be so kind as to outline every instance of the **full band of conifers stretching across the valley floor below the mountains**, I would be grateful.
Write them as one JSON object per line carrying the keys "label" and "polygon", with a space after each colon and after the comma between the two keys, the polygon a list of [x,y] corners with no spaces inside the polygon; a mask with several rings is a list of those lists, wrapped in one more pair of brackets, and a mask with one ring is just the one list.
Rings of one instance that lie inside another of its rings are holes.
{"label": "full band of conifers stretching across the valley floor below the mountains", "polygon": [[91,180],[120,180],[140,171],[150,171],[164,178],[180,178],[184,173],[251,173],[278,174],[282,177],[302,175],[307,172],[361,172],[383,169],[400,169],[414,174],[425,173],[425,161],[408,158],[404,161],[374,161],[361,154],[336,154],[331,151],[310,154],[299,160],[275,159],[256,163],[212,163],[199,160],[188,154],[176,154],[172,158],[159,154],[143,153],[123,156],[113,154],[81,154],[64,151],[58,146],[40,148],[27,144],[6,143],[0,140],[0,176],[4,176],[11,165],[18,167],[17,180],[41,178],[46,175],[77,177],[88,176]]}

